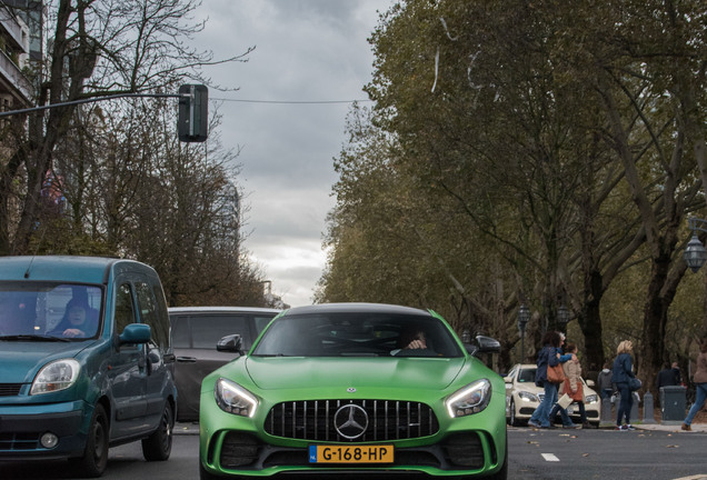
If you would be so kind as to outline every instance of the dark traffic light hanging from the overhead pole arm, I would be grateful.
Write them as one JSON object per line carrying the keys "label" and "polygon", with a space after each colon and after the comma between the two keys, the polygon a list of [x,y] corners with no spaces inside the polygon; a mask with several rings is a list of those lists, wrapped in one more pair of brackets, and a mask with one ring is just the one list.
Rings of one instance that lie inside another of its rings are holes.
{"label": "dark traffic light hanging from the overhead pole arm", "polygon": [[202,142],[209,134],[209,89],[202,84],[179,87],[177,134],[183,142]]}

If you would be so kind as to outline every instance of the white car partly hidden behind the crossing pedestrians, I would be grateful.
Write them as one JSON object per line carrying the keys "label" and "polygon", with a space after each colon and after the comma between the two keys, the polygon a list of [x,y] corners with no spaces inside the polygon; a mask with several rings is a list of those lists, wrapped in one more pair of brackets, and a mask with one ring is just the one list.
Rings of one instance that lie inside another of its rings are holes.
{"label": "white car partly hidden behind the crossing pedestrians", "polygon": [[[535,409],[540,404],[545,390],[535,384],[536,366],[532,363],[515,364],[510,372],[504,378],[506,382],[506,421],[511,426],[527,424]],[[587,421],[599,424],[601,414],[601,400],[599,394],[590,387],[594,382],[587,383],[582,379],[585,392],[585,410]],[[579,422],[579,408],[577,403],[571,403],[567,408],[567,413],[575,423]]]}

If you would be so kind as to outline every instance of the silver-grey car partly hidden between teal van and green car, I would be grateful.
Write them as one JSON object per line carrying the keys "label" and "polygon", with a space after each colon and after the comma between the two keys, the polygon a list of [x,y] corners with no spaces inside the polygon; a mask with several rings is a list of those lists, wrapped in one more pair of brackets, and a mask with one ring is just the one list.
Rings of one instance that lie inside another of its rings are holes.
{"label": "silver-grey car partly hidden between teal van and green car", "polygon": [[280,310],[256,307],[175,307],[169,309],[172,347],[177,356],[177,420],[199,419],[201,381],[217,368],[238,357],[218,351],[225,337],[238,334],[242,349],[250,349],[256,337]]}

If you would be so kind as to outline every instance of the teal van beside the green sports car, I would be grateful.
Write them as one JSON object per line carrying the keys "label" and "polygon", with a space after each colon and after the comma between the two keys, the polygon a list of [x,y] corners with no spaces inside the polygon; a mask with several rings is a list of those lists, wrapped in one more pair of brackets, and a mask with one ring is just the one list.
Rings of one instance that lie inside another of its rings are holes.
{"label": "teal van beside the green sports car", "polygon": [[0,461],[106,470],[141,440],[167,460],[177,409],[162,286],[143,263],[0,257]]}

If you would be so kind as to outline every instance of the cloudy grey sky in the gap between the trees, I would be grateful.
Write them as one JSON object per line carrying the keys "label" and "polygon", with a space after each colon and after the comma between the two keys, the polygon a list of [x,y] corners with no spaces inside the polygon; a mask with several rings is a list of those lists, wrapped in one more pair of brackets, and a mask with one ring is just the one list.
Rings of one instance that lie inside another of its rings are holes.
{"label": "cloudy grey sky in the gap between the trees", "polygon": [[[390,0],[203,0],[197,38],[217,58],[255,51],[246,63],[210,68],[209,91],[222,101],[226,147],[241,150],[246,249],[272,292],[295,306],[312,302],[326,263],[325,218],[335,199],[332,159],[346,141],[350,104],[269,103],[366,99],[374,57],[367,39]],[[211,103],[210,108],[215,104]]]}

